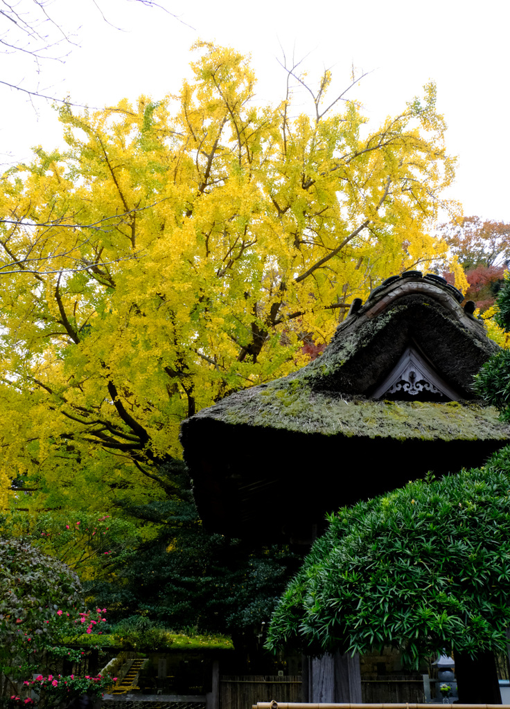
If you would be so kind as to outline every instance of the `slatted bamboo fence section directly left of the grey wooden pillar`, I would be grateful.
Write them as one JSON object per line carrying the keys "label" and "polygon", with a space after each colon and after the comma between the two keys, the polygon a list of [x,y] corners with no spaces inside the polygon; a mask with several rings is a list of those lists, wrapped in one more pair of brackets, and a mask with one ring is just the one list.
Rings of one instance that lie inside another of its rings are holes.
{"label": "slatted bamboo fence section directly left of the grey wooden pillar", "polygon": [[221,675],[220,709],[250,709],[257,702],[300,702],[301,675]]}

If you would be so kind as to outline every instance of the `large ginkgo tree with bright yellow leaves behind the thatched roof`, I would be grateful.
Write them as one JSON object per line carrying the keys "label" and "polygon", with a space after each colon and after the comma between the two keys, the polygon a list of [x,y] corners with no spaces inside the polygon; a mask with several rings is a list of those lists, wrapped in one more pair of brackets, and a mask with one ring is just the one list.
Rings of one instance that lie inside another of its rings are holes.
{"label": "large ginkgo tree with bright yellow leaves behind the thatched roof", "polygon": [[67,152],[2,177],[1,474],[31,504],[78,469],[82,504],[99,482],[171,495],[182,418],[299,367],[305,333],[328,341],[354,297],[447,255],[433,84],[370,132],[329,72],[295,115],[292,91],[257,106],[246,57],[194,50],[177,96],[64,106]]}

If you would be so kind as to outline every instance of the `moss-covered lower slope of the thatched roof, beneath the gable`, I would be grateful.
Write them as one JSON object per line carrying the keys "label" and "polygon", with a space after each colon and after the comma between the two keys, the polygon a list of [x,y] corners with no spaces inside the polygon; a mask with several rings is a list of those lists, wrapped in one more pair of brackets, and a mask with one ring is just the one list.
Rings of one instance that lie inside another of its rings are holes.
{"label": "moss-covered lower slope of the thatched roof, beneath the gable", "polygon": [[506,440],[510,427],[477,403],[374,401],[313,391],[296,378],[233,394],[196,415],[230,425],[396,440]]}

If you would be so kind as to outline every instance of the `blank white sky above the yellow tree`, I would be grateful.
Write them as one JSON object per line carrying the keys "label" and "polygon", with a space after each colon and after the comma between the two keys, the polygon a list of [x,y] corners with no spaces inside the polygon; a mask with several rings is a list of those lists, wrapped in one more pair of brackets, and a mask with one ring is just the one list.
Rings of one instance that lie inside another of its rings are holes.
{"label": "blank white sky above the yellow tree", "polygon": [[[133,0],[96,0],[118,30],[94,0],[54,0],[48,11],[76,33],[78,46],[55,50],[71,51],[64,63],[43,62],[39,75],[19,54],[0,55],[0,79],[94,107],[139,94],[159,99],[179,89],[189,47],[201,38],[250,53],[257,100],[276,102],[285,86],[281,45],[287,55],[309,55],[310,82],[323,67],[333,69],[339,89],[352,64],[371,72],[350,95],[374,127],[434,79],[448,151],[459,158],[450,196],[467,216],[510,222],[510,0],[159,1],[182,21]],[[0,28],[9,28],[1,16]],[[21,92],[0,86],[0,163],[28,159],[33,145],[61,144],[48,102],[33,105],[37,112]]]}

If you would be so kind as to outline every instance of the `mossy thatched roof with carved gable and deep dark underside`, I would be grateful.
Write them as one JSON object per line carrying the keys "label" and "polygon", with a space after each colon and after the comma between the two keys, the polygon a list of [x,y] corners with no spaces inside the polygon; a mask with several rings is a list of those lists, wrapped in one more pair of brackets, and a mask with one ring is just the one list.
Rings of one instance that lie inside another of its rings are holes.
{"label": "mossy thatched roof with carved gable and deep dark underside", "polygon": [[[285,506],[279,515],[292,536],[302,533],[296,516],[320,523],[326,510],[428,469],[482,464],[510,427],[473,392],[473,376],[498,346],[461,302],[433,274],[387,279],[365,305],[353,303],[314,362],[185,421],[184,457],[204,521],[245,535],[272,503]],[[311,475],[313,491],[296,493],[296,479],[309,488]]]}

